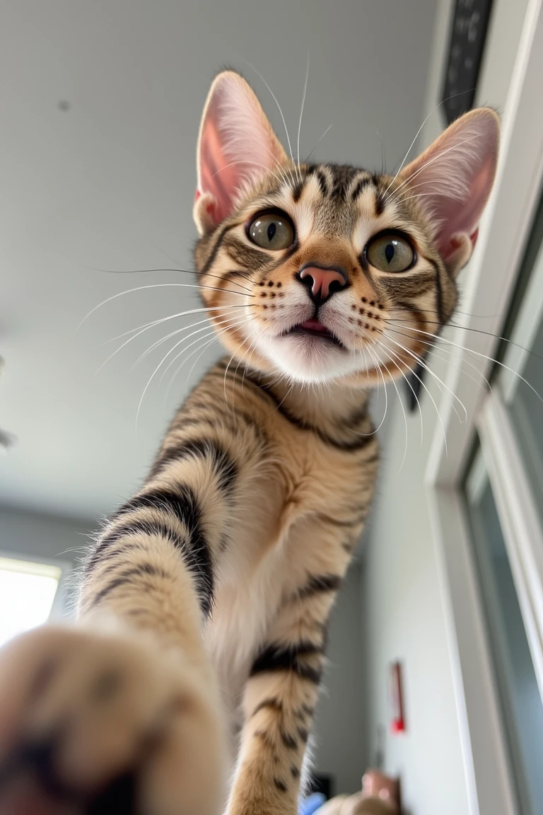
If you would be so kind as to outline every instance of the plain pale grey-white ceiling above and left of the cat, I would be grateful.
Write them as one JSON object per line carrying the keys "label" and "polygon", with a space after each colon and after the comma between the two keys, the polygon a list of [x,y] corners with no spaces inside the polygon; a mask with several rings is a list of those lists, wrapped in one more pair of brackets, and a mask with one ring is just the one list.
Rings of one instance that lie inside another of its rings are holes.
{"label": "plain pale grey-white ceiling above and left of the cat", "polygon": [[213,74],[240,68],[283,138],[273,99],[243,59],[296,134],[309,51],[302,155],[333,123],[317,158],[379,168],[380,134],[392,167],[421,123],[434,10],[435,0],[3,3],[0,427],[18,443],[0,459],[0,502],[93,518],[145,474],[195,357],[167,403],[164,382],[151,382],[136,435],[138,401],[173,340],[131,371],[160,337],[143,333],[96,374],[116,347],[103,343],[196,308],[197,298],[145,289],[76,328],[124,289],[191,282],[98,270],[190,269],[195,138]]}

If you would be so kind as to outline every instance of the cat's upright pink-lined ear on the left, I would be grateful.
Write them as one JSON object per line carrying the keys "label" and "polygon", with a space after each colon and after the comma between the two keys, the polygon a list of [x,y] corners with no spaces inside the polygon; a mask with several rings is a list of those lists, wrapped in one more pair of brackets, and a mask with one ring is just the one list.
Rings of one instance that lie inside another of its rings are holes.
{"label": "cat's upright pink-lined ear on the left", "polygon": [[200,235],[230,214],[236,193],[287,158],[261,104],[233,71],[212,83],[199,130],[194,218]]}

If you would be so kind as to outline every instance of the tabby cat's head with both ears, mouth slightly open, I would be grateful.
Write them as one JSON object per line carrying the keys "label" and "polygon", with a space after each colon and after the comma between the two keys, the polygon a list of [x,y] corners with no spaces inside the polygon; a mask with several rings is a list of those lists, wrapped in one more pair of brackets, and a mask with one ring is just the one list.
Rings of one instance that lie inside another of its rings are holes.
{"label": "tabby cat's head with both ears, mouth slightly open", "polygon": [[247,82],[221,73],[199,133],[195,261],[230,353],[300,382],[414,368],[456,305],[498,139],[480,108],[396,176],[298,163]]}

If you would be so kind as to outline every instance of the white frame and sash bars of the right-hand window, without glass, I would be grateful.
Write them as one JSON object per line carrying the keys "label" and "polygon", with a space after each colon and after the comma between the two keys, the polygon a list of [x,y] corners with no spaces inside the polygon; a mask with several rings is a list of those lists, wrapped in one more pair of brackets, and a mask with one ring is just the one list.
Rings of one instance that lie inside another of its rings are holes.
{"label": "white frame and sash bars of the right-hand window, without glass", "polygon": [[[469,337],[471,351],[455,350],[461,363],[449,367],[445,381],[465,404],[468,417],[459,425],[454,421],[452,403],[443,399],[440,416],[444,432],[441,426],[436,430],[425,474],[469,815],[517,812],[462,498],[462,478],[477,433],[506,537],[537,681],[543,689],[541,526],[501,398],[474,388],[470,377],[462,377],[462,362],[475,365],[484,377],[492,368],[492,361],[486,357],[496,354],[499,341],[492,335],[499,337],[503,330],[503,316],[508,311],[532,225],[531,215],[543,190],[542,95],[543,2],[529,0],[502,120],[497,181],[466,280],[466,314],[458,315],[462,328],[445,339],[463,346]],[[541,297],[541,289],[538,295]],[[540,306],[541,302],[532,302],[532,325],[541,316]],[[497,315],[485,319],[487,333],[475,333],[480,323],[472,315],[477,314]],[[475,328],[475,332],[467,333],[465,328]],[[515,364],[521,362],[519,358]]]}

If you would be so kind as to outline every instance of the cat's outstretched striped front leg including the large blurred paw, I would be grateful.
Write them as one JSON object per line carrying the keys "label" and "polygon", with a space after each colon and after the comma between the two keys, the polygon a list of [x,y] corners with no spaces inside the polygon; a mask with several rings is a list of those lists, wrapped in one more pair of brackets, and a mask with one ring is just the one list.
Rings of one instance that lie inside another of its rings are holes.
{"label": "cat's outstretched striped front leg including the large blurred paw", "polygon": [[233,488],[222,448],[220,469],[211,442],[194,447],[166,450],[104,529],[79,621],[0,650],[2,815],[221,812],[223,721],[201,627]]}

